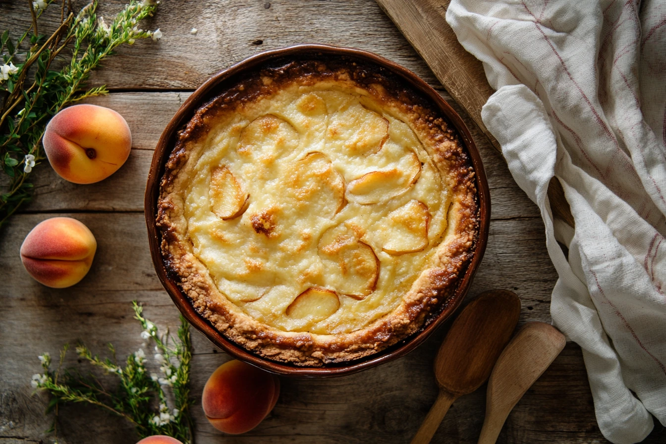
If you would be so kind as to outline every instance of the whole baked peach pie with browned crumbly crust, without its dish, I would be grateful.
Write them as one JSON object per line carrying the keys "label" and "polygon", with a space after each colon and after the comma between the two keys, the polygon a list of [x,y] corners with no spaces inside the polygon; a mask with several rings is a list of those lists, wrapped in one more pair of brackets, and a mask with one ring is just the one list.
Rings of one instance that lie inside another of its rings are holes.
{"label": "whole baked peach pie with browned crumbly crust, without its dish", "polygon": [[416,332],[477,230],[474,170],[446,120],[394,79],[329,65],[265,69],[203,105],[178,134],[157,217],[196,310],[298,365]]}

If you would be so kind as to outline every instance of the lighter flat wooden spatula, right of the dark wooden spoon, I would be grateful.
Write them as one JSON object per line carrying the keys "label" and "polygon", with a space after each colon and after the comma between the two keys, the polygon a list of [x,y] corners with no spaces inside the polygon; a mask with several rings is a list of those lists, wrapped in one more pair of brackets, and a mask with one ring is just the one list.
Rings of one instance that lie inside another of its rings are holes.
{"label": "lighter flat wooden spatula, right of the dark wooden spoon", "polygon": [[516,333],[490,375],[486,419],[478,444],[497,441],[513,406],[555,360],[565,343],[562,333],[543,322],[529,322]]}

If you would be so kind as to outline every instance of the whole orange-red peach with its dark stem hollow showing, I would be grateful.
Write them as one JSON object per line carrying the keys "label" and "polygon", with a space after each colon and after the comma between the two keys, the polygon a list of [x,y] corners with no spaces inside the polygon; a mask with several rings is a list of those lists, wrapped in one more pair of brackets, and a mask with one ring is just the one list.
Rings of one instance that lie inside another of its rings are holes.
{"label": "whole orange-red peach with its dark stem hollow showing", "polygon": [[132,148],[125,118],[105,107],[74,105],[55,114],[44,150],[55,172],[75,184],[92,184],[118,170]]}

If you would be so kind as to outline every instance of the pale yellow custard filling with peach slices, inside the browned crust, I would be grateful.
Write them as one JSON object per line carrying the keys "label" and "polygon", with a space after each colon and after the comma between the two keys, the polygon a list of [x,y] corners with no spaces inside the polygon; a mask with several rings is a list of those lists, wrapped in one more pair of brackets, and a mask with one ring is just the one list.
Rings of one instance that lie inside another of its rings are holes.
{"label": "pale yellow custard filling with peach slices, inside the browned crust", "polygon": [[252,318],[348,333],[394,310],[447,226],[418,136],[368,95],[291,85],[213,126],[185,185],[194,255]]}

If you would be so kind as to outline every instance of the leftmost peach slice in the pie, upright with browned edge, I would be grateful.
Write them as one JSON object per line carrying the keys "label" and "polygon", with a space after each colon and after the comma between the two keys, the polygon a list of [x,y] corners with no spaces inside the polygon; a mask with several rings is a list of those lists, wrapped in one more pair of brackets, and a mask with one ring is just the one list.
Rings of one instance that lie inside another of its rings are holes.
{"label": "leftmost peach slice in the pie, upright with browned edge", "polygon": [[226,166],[218,166],[210,172],[210,211],[218,218],[229,220],[245,212],[249,204],[249,194],[243,191],[236,176]]}

